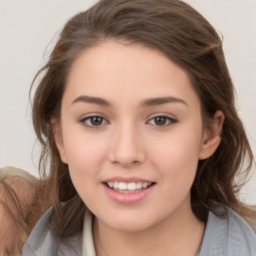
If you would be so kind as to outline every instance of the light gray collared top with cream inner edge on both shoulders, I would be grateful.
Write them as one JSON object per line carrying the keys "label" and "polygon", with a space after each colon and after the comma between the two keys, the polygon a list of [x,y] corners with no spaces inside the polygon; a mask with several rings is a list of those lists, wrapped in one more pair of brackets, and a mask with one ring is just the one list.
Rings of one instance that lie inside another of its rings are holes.
{"label": "light gray collared top with cream inner edge on both shoulders", "polygon": [[[233,210],[226,207],[224,218],[209,212],[199,256],[255,256],[256,234]],[[92,237],[92,218],[89,210],[85,213],[83,233],[68,239],[69,246],[59,242],[49,230],[52,208],[47,210],[34,226],[22,256],[95,256]],[[223,212],[224,208],[219,207]]]}

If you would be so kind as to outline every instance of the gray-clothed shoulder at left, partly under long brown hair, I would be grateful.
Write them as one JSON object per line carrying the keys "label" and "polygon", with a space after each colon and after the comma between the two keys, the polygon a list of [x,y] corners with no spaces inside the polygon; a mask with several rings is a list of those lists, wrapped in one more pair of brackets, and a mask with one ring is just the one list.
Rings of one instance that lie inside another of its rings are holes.
{"label": "gray-clothed shoulder at left, partly under long brown hair", "polygon": [[58,242],[50,231],[50,207],[32,229],[27,242],[22,247],[22,256],[62,256],[81,255],[82,234],[69,237],[66,243]]}

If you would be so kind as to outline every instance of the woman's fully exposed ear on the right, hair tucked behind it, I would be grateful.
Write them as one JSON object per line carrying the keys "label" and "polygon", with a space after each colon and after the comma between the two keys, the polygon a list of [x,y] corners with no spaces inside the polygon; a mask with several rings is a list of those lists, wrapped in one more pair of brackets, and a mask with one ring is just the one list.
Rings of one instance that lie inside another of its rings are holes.
{"label": "woman's fully exposed ear on the right, hair tucked behind it", "polygon": [[199,159],[206,159],[211,156],[217,149],[222,134],[222,126],[224,121],[224,114],[218,110],[213,116],[213,123],[209,125],[209,128],[203,131],[202,144],[199,151]]}

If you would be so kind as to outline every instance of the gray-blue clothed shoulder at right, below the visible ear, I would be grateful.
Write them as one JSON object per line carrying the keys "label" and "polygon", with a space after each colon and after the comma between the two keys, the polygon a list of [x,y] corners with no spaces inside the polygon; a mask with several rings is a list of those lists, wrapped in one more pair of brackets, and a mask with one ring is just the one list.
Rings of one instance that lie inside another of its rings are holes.
{"label": "gray-blue clothed shoulder at right, below the visible ear", "polygon": [[209,212],[200,256],[255,256],[256,234],[233,210],[220,205],[218,212],[223,217]]}

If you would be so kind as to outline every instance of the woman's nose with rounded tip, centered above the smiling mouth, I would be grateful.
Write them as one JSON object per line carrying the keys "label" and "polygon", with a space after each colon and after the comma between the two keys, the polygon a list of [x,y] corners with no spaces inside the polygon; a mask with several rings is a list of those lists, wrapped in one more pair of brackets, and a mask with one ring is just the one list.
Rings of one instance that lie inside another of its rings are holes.
{"label": "woman's nose with rounded tip, centered above the smiling mouth", "polygon": [[109,160],[122,167],[132,167],[145,160],[141,135],[135,125],[123,124],[113,131]]}

